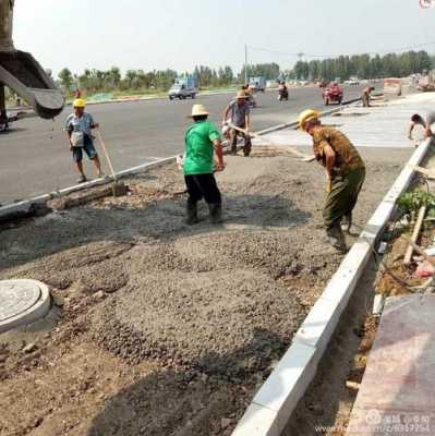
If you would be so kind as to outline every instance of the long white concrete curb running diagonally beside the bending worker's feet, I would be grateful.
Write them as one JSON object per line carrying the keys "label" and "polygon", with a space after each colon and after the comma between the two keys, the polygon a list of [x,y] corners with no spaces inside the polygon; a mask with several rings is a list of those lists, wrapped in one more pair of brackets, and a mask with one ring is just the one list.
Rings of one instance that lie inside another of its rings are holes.
{"label": "long white concrete curb running diagonally beside the bending worker's feet", "polygon": [[399,196],[412,181],[411,167],[420,165],[430,144],[430,140],[424,141],[413,153],[294,335],[290,348],[255,395],[232,436],[279,436],[282,433],[316,375],[317,365]]}

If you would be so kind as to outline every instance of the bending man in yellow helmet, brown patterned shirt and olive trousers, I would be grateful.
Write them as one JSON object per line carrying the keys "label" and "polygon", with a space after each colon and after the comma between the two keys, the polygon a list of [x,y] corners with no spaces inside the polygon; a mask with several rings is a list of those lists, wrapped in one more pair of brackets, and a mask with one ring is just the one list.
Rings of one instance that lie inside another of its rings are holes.
{"label": "bending man in yellow helmet, brown patterned shirt and olive trousers", "polygon": [[342,230],[350,232],[352,226],[352,210],[365,179],[364,162],[345,134],[322,125],[317,111],[304,110],[299,125],[313,137],[314,155],[328,177],[323,219],[329,242],[346,252]]}

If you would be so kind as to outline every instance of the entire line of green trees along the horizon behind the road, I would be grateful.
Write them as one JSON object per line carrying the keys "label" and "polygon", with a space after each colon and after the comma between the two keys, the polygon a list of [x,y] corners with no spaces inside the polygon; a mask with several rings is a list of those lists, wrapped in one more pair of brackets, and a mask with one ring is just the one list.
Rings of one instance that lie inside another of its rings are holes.
{"label": "entire line of green trees along the horizon behind the road", "polygon": [[[388,53],[385,56],[340,56],[334,59],[299,61],[292,70],[283,71],[278,63],[257,63],[247,65],[247,76],[264,76],[266,80],[278,78],[298,80],[334,80],[350,76],[361,78],[403,77],[413,73],[435,68],[435,57],[426,51],[408,51],[406,53]],[[201,88],[239,85],[244,83],[244,68],[234,73],[231,66],[226,65],[213,69],[197,65],[192,72],[177,72],[174,70],[128,70],[124,74],[118,66],[110,70],[85,70],[83,74],[73,74],[68,68],[59,73],[60,84],[69,92],[86,89],[89,93],[113,90],[167,90],[176,77],[193,76]]]}

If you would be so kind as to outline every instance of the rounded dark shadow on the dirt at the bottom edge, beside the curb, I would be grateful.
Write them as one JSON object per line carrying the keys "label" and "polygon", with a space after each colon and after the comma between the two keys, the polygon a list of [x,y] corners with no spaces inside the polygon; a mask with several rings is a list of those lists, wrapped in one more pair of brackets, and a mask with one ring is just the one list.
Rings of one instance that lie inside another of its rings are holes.
{"label": "rounded dark shadow on the dirt at the bottom edge, beside the curb", "polygon": [[[274,332],[257,329],[250,343],[231,355],[206,360],[238,360],[239,355],[268,352],[264,367],[240,372],[240,380],[221,374],[168,370],[154,373],[108,399],[87,436],[206,436],[229,435],[250,401],[255,385],[270,372],[274,353],[268,343],[288,344]],[[267,355],[267,354],[266,354]],[[217,362],[219,363],[219,362]],[[202,361],[197,366],[204,366]],[[277,392],[278,393],[278,392]]]}

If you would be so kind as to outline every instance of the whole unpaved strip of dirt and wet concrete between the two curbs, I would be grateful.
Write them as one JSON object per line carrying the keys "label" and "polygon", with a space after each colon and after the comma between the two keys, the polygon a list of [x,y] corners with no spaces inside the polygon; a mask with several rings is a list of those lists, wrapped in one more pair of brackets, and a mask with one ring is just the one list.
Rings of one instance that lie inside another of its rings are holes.
{"label": "whole unpaved strip of dirt and wet concrete between the two curbs", "polygon": [[[357,225],[411,152],[362,150]],[[183,225],[167,166],[129,196],[3,227],[0,278],[48,283],[59,308],[0,336],[1,436],[232,432],[342,256],[324,240],[322,168],[278,148],[227,160],[222,226],[205,207]]]}

